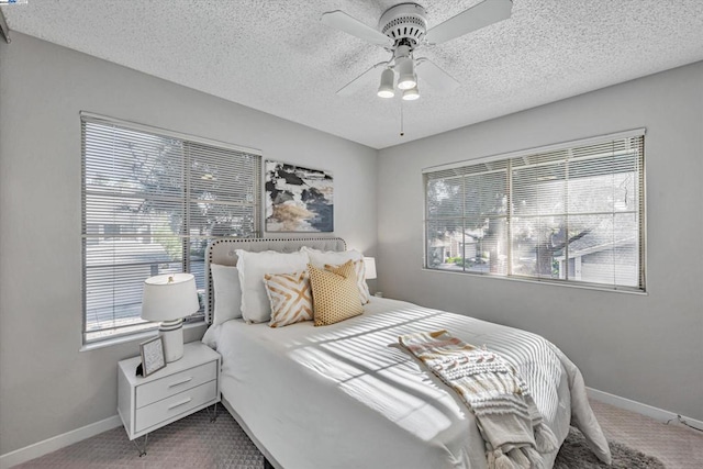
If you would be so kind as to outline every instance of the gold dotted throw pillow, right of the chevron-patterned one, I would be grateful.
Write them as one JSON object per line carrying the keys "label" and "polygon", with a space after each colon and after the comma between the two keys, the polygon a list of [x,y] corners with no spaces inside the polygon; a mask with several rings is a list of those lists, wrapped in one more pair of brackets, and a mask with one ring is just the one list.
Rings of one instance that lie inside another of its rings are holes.
{"label": "gold dotted throw pillow, right of the chevron-patterned one", "polygon": [[349,260],[327,270],[310,264],[308,270],[316,326],[338,323],[364,312],[359,301],[354,261]]}

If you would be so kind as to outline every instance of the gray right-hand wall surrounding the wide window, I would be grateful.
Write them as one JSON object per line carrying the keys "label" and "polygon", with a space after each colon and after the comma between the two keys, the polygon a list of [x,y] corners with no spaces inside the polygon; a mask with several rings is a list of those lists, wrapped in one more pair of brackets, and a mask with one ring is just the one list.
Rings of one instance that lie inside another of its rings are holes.
{"label": "gray right-hand wall surrounding the wide window", "polygon": [[[647,127],[648,294],[428,271],[422,168]],[[379,288],[545,335],[587,386],[703,418],[703,63],[380,152]]]}

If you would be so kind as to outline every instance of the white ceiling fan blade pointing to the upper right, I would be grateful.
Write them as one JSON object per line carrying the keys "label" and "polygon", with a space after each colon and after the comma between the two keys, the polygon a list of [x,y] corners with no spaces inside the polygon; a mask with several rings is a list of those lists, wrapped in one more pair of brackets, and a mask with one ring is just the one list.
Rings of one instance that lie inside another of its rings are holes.
{"label": "white ceiling fan blade pointing to the upper right", "polygon": [[442,44],[510,18],[512,0],[483,0],[427,31],[428,44]]}

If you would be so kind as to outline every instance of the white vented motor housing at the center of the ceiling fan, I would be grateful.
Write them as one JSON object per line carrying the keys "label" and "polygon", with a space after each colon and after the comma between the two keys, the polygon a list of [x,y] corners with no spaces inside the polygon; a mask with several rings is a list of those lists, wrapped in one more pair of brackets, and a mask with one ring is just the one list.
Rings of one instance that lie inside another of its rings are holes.
{"label": "white vented motor housing at the center of the ceiling fan", "polygon": [[379,30],[393,41],[393,49],[406,45],[414,49],[427,32],[425,9],[417,3],[400,3],[386,10]]}

